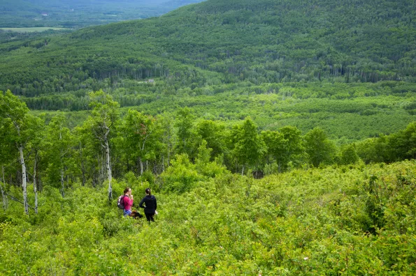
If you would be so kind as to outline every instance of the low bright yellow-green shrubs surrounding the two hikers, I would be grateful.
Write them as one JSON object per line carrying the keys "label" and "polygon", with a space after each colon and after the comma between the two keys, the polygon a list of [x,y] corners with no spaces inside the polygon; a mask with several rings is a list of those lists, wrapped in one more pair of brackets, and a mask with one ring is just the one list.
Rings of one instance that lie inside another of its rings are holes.
{"label": "low bright yellow-green shrubs surrounding the two hikers", "polygon": [[[226,170],[212,177],[196,167],[188,166],[194,174],[187,191],[168,176],[149,183],[129,173],[113,182],[115,194],[131,186],[135,204],[144,187],[153,188],[159,215],[150,225],[124,219],[116,199],[108,204],[106,185],[73,185],[64,198],[45,187],[38,215],[8,201],[0,213],[0,273],[416,273],[415,160],[296,169],[260,180]],[[13,193],[20,190],[10,187]]]}

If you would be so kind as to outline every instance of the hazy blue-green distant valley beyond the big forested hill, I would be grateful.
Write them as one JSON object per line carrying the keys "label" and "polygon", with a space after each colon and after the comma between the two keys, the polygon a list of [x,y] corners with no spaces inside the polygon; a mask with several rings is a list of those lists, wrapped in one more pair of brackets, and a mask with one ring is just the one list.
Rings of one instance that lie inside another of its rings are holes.
{"label": "hazy blue-green distant valley beyond the big forested hill", "polygon": [[55,27],[78,29],[84,26],[136,20],[168,13],[199,0],[3,0],[0,28]]}

